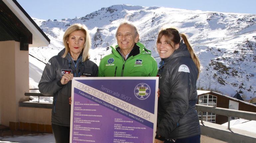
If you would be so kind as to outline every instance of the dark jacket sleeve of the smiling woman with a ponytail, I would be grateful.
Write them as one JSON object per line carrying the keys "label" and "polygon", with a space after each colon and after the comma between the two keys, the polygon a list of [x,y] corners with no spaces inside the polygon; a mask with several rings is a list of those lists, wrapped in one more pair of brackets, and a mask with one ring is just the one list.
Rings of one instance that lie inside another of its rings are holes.
{"label": "dark jacket sleeve of the smiling woman with a ponytail", "polygon": [[168,88],[166,94],[168,95],[161,95],[160,89],[160,97],[169,97],[169,103],[163,107],[166,112],[158,123],[158,130],[156,132],[163,137],[168,137],[179,126],[179,120],[184,117],[189,108],[191,74],[189,72],[178,72],[178,69],[179,67],[174,69],[173,73],[169,75],[170,84],[166,85],[166,88]]}

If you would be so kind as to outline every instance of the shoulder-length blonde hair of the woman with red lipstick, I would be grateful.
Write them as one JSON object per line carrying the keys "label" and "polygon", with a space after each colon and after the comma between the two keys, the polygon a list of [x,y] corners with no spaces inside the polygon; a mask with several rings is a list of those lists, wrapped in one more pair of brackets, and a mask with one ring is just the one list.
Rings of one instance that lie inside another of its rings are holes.
{"label": "shoulder-length blonde hair of the woman with red lipstick", "polygon": [[85,43],[84,43],[83,54],[82,54],[82,61],[84,62],[86,59],[89,58],[89,49],[91,47],[91,36],[88,32],[87,27],[82,24],[72,24],[66,29],[63,35],[63,44],[65,46],[65,53],[63,54],[62,58],[65,58],[67,53],[70,52],[69,46],[67,44],[69,35],[72,32],[78,31],[78,30],[81,30],[85,34]]}

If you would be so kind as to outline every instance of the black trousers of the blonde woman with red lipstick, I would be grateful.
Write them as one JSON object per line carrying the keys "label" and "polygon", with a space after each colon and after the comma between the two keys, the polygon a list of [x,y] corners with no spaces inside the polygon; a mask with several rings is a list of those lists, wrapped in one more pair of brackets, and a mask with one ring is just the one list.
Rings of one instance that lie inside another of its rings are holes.
{"label": "black trousers of the blonde woman with red lipstick", "polygon": [[56,143],[69,143],[70,127],[52,123],[52,129]]}

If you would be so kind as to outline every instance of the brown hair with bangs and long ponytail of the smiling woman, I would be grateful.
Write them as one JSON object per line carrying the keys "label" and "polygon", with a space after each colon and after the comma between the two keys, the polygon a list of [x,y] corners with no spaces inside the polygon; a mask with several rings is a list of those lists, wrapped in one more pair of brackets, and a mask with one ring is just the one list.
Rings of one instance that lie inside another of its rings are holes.
{"label": "brown hair with bangs and long ponytail of the smiling woman", "polygon": [[193,51],[193,49],[192,49],[192,47],[191,47],[191,45],[188,41],[188,38],[187,38],[186,34],[185,33],[179,33],[179,31],[174,27],[164,28],[158,33],[157,43],[160,41],[162,36],[165,36],[166,41],[168,42],[168,44],[173,49],[175,49],[175,47],[174,47],[174,45],[172,45],[172,42],[174,44],[180,44],[181,37],[182,37],[184,43],[186,44],[186,46],[187,46],[187,48],[190,52],[191,58],[192,58],[193,62],[195,63],[196,68],[198,70],[198,75],[197,75],[197,78],[198,78],[199,77],[199,72],[200,72],[200,62],[199,62],[198,57],[195,55],[195,53],[194,53],[194,51]]}

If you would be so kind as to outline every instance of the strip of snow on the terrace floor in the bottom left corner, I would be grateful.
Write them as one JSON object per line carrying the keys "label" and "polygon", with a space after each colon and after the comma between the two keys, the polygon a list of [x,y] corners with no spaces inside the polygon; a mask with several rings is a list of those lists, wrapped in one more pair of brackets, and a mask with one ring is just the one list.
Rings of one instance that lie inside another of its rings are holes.
{"label": "strip of snow on the terrace floor in the bottom left corner", "polygon": [[53,134],[0,137],[0,143],[55,143]]}

